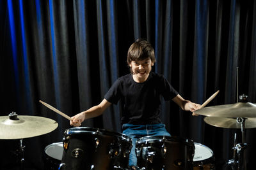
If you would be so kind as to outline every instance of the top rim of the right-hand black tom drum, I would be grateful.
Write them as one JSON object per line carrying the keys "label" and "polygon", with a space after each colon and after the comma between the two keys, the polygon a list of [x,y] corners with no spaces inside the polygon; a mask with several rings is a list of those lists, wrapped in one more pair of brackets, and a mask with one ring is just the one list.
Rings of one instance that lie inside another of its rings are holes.
{"label": "top rim of the right-hand black tom drum", "polygon": [[[152,139],[151,139],[152,138]],[[148,140],[147,140],[148,139]],[[179,140],[168,140],[168,139],[179,139]],[[189,139],[189,138],[183,138],[183,137],[180,137],[180,136],[143,136],[141,138],[139,138],[137,141],[136,141],[136,144],[141,144],[141,143],[146,143],[146,140],[147,142],[148,141],[160,141],[160,142],[163,142],[163,140],[166,140],[166,141],[179,141],[179,142],[183,142],[183,143],[189,143],[191,145],[194,144],[193,140],[192,139]]]}

